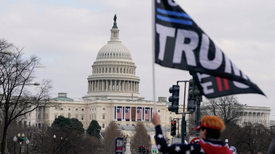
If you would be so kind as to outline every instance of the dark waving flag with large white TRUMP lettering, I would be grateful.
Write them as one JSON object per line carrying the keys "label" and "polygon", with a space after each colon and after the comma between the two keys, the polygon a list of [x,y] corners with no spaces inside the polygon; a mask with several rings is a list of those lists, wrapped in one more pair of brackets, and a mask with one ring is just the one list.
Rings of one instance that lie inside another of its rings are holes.
{"label": "dark waving flag with large white TRUMP lettering", "polygon": [[[241,93],[263,94],[175,1],[155,0],[153,11],[155,63],[189,70],[195,76],[196,83],[205,91],[203,94],[206,97]],[[198,82],[197,73],[210,75],[207,78],[211,80],[208,81],[208,86]],[[210,86],[214,85],[214,81],[217,88]],[[219,81],[225,81],[223,90]],[[206,94],[206,91],[209,93]]]}

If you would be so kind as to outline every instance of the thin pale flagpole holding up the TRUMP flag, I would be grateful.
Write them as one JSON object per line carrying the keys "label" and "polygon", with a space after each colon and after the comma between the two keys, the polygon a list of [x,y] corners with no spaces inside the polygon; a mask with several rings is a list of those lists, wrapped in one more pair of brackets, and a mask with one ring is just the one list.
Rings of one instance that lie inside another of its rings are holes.
{"label": "thin pale flagpole holding up the TRUMP flag", "polygon": [[152,0],[152,68],[153,68],[153,102],[154,102],[154,112],[156,112],[155,107],[155,0]]}

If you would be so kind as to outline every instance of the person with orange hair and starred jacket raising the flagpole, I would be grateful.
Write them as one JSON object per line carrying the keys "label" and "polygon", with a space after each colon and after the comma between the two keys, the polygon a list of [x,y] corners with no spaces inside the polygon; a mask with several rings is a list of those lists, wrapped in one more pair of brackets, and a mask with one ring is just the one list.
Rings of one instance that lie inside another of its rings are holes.
{"label": "person with orange hair and starred jacket raising the flagpole", "polygon": [[225,129],[223,120],[219,116],[203,116],[201,125],[195,128],[199,130],[199,143],[191,144],[166,144],[162,136],[159,116],[153,114],[152,123],[155,125],[155,142],[157,149],[162,153],[206,153],[206,154],[232,154],[227,144],[220,140],[221,132]]}

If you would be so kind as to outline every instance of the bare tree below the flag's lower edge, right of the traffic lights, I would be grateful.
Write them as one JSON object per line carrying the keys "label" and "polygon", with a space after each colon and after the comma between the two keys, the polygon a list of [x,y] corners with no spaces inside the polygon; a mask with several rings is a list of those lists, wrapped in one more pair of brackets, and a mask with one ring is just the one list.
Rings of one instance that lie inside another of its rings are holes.
{"label": "bare tree below the flag's lower edge, right of the traffic lights", "polygon": [[223,118],[225,125],[237,123],[241,119],[243,105],[235,95],[206,99],[201,107],[202,114],[210,114]]}

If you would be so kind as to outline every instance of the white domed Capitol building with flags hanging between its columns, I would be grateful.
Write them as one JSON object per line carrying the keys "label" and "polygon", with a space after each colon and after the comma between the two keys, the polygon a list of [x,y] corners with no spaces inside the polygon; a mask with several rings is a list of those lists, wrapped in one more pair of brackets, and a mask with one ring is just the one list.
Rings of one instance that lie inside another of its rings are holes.
{"label": "white domed Capitol building with flags hanging between its columns", "polygon": [[[149,134],[154,134],[150,122],[153,112],[153,101],[146,101],[140,96],[140,77],[135,70],[137,66],[132,60],[130,51],[119,40],[120,29],[116,21],[111,29],[111,39],[96,55],[91,66],[92,75],[87,78],[87,94],[82,99],[70,99],[67,93],[58,93],[52,99],[60,107],[41,107],[26,115],[24,125],[52,125],[58,116],[78,118],[85,130],[91,120],[97,120],[106,129],[111,121],[125,131],[133,131],[138,121],[144,123]],[[170,121],[181,118],[181,114],[168,111],[169,102],[166,97],[159,97],[156,103],[164,133],[170,136]],[[183,112],[183,105],[179,112]],[[186,114],[188,121],[188,114]],[[243,118],[240,123],[270,124],[270,107],[244,106]],[[151,133],[150,133],[150,132]]]}

